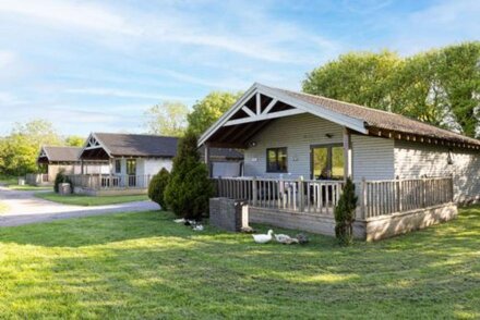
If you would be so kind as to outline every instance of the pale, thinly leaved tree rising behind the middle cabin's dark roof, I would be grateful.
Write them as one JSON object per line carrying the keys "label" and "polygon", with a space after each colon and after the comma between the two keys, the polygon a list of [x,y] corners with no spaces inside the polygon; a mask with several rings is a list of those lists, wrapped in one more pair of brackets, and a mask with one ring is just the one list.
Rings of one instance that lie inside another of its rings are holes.
{"label": "pale, thinly leaved tree rising behind the middle cabin's dark roof", "polygon": [[187,128],[188,113],[185,104],[166,101],[145,111],[144,125],[149,134],[181,136]]}

